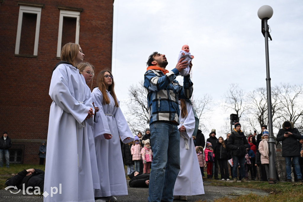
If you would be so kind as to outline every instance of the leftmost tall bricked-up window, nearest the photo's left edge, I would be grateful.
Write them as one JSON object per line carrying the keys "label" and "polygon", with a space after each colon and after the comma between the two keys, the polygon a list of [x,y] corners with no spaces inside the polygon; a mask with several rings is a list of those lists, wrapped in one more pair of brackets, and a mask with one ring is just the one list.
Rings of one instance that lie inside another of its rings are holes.
{"label": "leftmost tall bricked-up window, nearest the photo's left edge", "polygon": [[19,18],[15,55],[37,56],[42,4],[18,3]]}

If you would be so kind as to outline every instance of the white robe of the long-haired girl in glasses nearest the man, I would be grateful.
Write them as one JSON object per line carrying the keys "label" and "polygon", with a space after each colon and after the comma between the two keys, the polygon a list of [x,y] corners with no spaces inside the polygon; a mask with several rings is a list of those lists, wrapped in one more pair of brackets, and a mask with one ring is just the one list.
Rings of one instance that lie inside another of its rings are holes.
{"label": "white robe of the long-haired girl in glasses nearest the man", "polygon": [[[121,144],[134,140],[120,107],[115,107],[114,98],[106,91],[109,104],[102,105],[102,93],[99,88],[92,91],[99,122],[94,124],[95,149],[100,178],[100,190],[95,190],[95,197],[127,195],[125,170],[122,160]],[[107,115],[106,115],[107,114]],[[112,135],[110,140],[104,138],[104,133]],[[130,137],[130,140],[124,140]]]}

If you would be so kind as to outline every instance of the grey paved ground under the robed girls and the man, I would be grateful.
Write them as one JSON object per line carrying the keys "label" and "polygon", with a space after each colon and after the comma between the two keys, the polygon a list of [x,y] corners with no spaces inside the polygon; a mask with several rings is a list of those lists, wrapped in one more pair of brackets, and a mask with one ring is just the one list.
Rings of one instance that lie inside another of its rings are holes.
{"label": "grey paved ground under the robed girls and the man", "polygon": [[[128,184],[127,180],[127,184]],[[254,193],[258,195],[268,195],[267,192],[256,190],[256,189],[248,189],[248,188],[238,188],[238,187],[220,187],[220,186],[210,186],[210,182],[205,181],[204,184],[204,191],[205,194],[202,195],[196,195],[196,196],[188,196],[187,201],[213,201],[214,199],[218,199],[220,197],[237,197],[239,195],[245,195],[249,193]],[[10,193],[10,190],[12,192],[17,192],[17,190],[9,189],[0,190],[0,201],[7,201],[7,202],[16,202],[16,201],[22,201],[22,202],[42,202],[43,198],[38,195],[23,195],[22,191],[20,191],[18,194],[12,194]],[[48,196],[49,197],[49,196]],[[128,186],[128,196],[119,196],[117,197],[118,202],[142,202],[147,201],[148,197],[148,189],[147,188],[132,188]],[[174,200],[179,201],[179,200]]]}

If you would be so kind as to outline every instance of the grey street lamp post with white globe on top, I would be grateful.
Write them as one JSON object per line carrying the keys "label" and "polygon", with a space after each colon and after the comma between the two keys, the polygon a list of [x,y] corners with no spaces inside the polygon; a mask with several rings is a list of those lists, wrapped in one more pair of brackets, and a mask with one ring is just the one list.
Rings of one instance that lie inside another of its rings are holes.
{"label": "grey street lamp post with white globe on top", "polygon": [[275,139],[272,133],[272,110],[271,110],[271,86],[269,74],[269,54],[268,54],[268,38],[269,34],[267,20],[271,18],[273,9],[269,5],[263,5],[258,10],[258,17],[262,20],[261,32],[265,37],[265,55],[266,55],[266,87],[267,87],[267,108],[268,108],[268,146],[269,146],[269,182],[270,184],[276,183],[276,163],[275,163]]}

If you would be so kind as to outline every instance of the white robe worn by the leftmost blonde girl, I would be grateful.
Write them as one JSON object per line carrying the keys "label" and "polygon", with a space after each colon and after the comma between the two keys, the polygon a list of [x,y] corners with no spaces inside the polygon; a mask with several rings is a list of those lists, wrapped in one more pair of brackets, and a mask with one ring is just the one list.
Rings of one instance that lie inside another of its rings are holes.
{"label": "white robe worn by the leftmost blonde girl", "polygon": [[[91,92],[78,69],[61,64],[52,74],[49,96],[44,192],[50,195],[44,201],[95,201],[87,134],[93,120],[85,120],[94,109]],[[51,197],[55,187],[58,193]]]}

